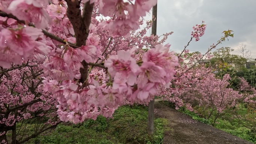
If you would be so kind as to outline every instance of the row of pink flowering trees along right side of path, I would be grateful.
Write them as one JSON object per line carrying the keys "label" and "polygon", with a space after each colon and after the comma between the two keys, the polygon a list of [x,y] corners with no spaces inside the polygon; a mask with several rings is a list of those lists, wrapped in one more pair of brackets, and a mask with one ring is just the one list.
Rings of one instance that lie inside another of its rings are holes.
{"label": "row of pink flowering trees along right side of path", "polygon": [[[255,133],[256,90],[243,77],[237,77],[239,81],[234,86],[230,74],[215,74],[217,71],[223,73],[224,69],[222,64],[213,67],[199,64],[180,77],[182,81],[176,80],[172,88],[164,92],[164,100],[175,103],[176,108],[186,106],[201,117],[211,119],[213,126],[218,118],[229,113]],[[246,111],[241,113],[243,107]]]}

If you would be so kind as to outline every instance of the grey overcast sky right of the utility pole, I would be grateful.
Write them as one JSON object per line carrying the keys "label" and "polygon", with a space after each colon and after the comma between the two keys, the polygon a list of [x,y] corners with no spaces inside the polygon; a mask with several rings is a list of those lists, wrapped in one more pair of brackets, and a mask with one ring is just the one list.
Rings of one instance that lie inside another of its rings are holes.
{"label": "grey overcast sky right of the utility pole", "polygon": [[[231,47],[234,54],[240,54],[237,48],[244,43],[256,58],[256,0],[158,0],[157,18],[158,35],[174,32],[166,41],[171,50],[180,52],[190,40],[192,26],[204,20],[205,34],[189,45],[191,52],[206,52],[224,36],[224,30],[230,29],[235,33],[234,38],[217,48]],[[145,19],[151,19],[151,15]]]}

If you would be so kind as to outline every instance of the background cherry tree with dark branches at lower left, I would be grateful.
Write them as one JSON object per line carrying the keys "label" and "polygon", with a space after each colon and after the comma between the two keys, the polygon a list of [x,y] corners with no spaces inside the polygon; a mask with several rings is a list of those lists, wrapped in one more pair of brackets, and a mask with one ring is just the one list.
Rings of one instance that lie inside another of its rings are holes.
{"label": "background cherry tree with dark branches at lower left", "polygon": [[[12,65],[0,71],[0,141],[7,143],[12,131],[12,143],[24,143],[60,123],[56,113],[57,99],[43,90],[42,69],[38,62]],[[47,77],[47,76],[46,76]],[[39,121],[45,120],[45,123]],[[24,136],[28,121],[35,121],[34,134]],[[20,126],[16,126],[16,123]],[[17,137],[21,135],[21,137]],[[23,137],[24,136],[24,137]]]}

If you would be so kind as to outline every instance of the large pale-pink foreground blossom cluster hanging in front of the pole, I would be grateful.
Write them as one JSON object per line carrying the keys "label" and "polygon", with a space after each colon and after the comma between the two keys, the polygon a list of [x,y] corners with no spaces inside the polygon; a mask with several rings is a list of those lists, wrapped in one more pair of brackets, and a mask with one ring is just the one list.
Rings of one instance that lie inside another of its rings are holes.
{"label": "large pale-pink foreground blossom cluster hanging in front of the pole", "polygon": [[[169,47],[170,45],[155,46],[144,53],[141,61],[132,58],[135,47],[127,51],[120,50],[117,55],[111,55],[105,60],[107,71],[93,70],[89,74],[88,87],[83,88],[82,83],[72,80],[63,79],[58,82],[57,80],[62,79],[45,78],[45,91],[58,99],[58,114],[63,121],[77,123],[88,118],[96,119],[99,114],[112,116],[115,108],[125,99],[130,102],[149,102],[159,92],[169,88],[175,73],[174,67],[178,65],[174,53],[168,52]],[[76,58],[79,54],[73,53],[69,59]],[[62,61],[64,58],[59,57]],[[59,62],[58,65],[63,63]],[[106,77],[106,72],[109,77]],[[54,73],[47,74],[56,76]],[[67,78],[64,74],[58,76]]]}

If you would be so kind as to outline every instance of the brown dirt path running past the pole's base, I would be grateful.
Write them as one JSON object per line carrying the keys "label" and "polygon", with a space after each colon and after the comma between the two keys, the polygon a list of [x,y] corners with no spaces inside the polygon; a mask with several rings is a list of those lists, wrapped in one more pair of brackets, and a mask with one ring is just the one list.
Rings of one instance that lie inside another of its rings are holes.
{"label": "brown dirt path running past the pole's base", "polygon": [[253,144],[211,125],[193,120],[179,111],[155,102],[155,116],[169,120],[170,131],[164,134],[163,144]]}

